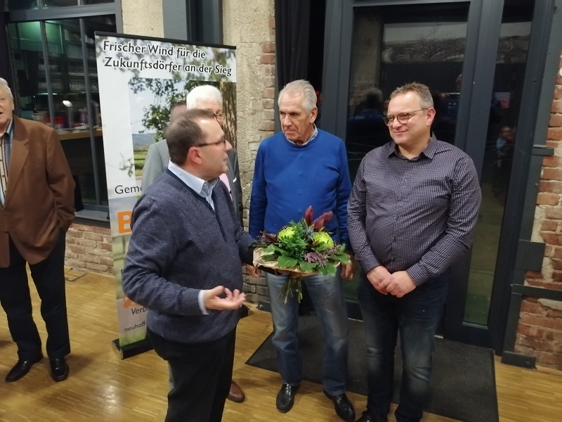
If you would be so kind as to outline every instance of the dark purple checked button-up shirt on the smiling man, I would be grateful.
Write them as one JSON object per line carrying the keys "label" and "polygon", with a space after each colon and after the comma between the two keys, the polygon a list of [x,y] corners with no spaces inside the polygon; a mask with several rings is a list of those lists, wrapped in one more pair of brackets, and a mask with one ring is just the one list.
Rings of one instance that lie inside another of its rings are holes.
{"label": "dark purple checked button-up shirt on the smiling man", "polygon": [[481,190],[471,158],[431,138],[417,158],[396,143],[363,158],[348,202],[348,232],[365,273],[384,265],[417,286],[443,274],[469,250]]}

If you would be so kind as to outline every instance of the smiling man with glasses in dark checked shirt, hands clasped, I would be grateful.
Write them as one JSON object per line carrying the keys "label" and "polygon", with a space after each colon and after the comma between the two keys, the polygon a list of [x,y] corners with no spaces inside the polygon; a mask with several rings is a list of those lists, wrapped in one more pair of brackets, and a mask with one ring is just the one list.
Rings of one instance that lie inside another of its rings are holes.
{"label": "smiling man with glasses in dark checked shirt, hands clasped", "polygon": [[435,115],[425,85],[393,91],[384,117],[393,141],[365,155],[349,198],[369,388],[358,422],[387,420],[398,333],[404,364],[396,421],[421,419],[447,269],[474,238],[478,175],[466,153],[431,134]]}

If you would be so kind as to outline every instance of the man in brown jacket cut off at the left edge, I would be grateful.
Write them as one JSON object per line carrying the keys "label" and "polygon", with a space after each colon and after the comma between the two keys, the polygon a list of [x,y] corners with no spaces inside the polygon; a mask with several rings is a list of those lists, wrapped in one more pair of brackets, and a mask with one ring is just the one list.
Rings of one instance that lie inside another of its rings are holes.
{"label": "man in brown jacket cut off at the left edge", "polygon": [[13,95],[0,78],[0,302],[18,345],[6,381],[25,376],[43,359],[32,318],[25,264],[41,298],[51,376],[68,376],[65,233],[74,219],[74,181],[54,129],[12,115]]}

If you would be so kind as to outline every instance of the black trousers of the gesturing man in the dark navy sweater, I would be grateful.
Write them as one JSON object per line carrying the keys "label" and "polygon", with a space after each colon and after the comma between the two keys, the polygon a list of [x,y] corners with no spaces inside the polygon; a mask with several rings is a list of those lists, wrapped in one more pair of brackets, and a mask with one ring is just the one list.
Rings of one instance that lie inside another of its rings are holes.
{"label": "black trousers of the gesturing man in the dark navy sweater", "polygon": [[207,343],[177,343],[148,330],[152,347],[170,366],[166,422],[220,422],[233,376],[235,330]]}

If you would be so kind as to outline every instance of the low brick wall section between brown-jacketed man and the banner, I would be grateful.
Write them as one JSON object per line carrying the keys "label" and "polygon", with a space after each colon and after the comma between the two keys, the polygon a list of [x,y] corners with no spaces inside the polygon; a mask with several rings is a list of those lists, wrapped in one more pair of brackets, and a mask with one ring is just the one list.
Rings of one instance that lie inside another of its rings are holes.
{"label": "low brick wall section between brown-jacketed man and the banner", "polygon": [[65,265],[81,271],[96,271],[112,276],[110,229],[72,224],[66,234]]}

